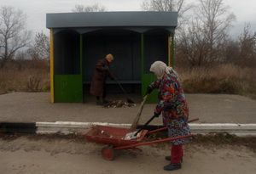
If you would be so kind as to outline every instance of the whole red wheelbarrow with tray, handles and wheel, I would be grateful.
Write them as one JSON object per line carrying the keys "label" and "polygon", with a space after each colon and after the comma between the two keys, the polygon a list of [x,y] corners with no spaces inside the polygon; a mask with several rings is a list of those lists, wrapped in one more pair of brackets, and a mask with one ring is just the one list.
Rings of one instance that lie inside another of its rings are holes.
{"label": "whole red wheelbarrow with tray, handles and wheel", "polygon": [[146,137],[149,134],[163,130],[166,130],[166,128],[156,129],[151,132],[142,129],[140,132],[137,132],[137,138],[125,139],[126,135],[131,132],[131,129],[113,126],[94,126],[84,136],[89,142],[107,144],[107,146],[102,148],[102,157],[105,160],[113,160],[114,151],[116,150],[137,149],[138,146],[172,142],[177,139],[189,138],[192,136],[190,134],[175,138],[162,138],[154,141],[147,141]]}

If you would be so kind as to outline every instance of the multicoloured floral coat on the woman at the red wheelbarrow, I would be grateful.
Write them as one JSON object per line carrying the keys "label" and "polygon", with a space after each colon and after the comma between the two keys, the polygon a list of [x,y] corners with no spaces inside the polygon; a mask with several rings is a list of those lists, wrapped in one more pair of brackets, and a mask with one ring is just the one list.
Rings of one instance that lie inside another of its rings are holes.
{"label": "multicoloured floral coat on the woman at the red wheelbarrow", "polygon": [[[189,135],[189,107],[176,74],[172,71],[170,74],[166,73],[162,79],[154,81],[149,87],[159,89],[159,102],[154,112],[162,114],[164,126],[168,126],[169,137]],[[187,140],[176,140],[172,143],[178,145]]]}

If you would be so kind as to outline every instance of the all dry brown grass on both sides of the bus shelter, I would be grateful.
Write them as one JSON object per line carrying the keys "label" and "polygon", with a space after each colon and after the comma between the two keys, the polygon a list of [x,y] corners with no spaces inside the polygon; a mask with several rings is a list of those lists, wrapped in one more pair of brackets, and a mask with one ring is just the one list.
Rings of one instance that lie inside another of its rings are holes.
{"label": "all dry brown grass on both sides of the bus shelter", "polygon": [[[255,68],[227,64],[177,71],[185,93],[230,93],[256,99]],[[17,91],[49,91],[48,62],[16,60],[0,69],[0,94]]]}

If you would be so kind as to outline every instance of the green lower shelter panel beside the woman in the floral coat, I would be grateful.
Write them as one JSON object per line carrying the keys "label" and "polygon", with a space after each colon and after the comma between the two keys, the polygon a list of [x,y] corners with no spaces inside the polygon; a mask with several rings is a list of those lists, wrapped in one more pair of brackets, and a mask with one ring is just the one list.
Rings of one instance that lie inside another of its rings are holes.
{"label": "green lower shelter panel beside the woman in the floral coat", "polygon": [[[154,74],[143,74],[143,81],[142,81],[143,95],[145,95],[148,85],[151,84],[153,81],[156,81],[156,77],[154,76]],[[150,96],[147,99],[147,103],[157,103],[158,102],[157,95],[158,95],[158,89],[154,89],[154,91],[150,93]]]}

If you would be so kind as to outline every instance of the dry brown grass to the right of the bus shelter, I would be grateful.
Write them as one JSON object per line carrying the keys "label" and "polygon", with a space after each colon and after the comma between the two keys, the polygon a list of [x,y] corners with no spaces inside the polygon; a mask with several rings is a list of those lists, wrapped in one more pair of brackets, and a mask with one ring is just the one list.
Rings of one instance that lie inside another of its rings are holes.
{"label": "dry brown grass to the right of the bus shelter", "polygon": [[230,93],[256,98],[256,71],[237,65],[178,70],[185,93]]}

